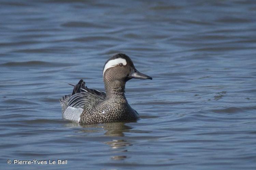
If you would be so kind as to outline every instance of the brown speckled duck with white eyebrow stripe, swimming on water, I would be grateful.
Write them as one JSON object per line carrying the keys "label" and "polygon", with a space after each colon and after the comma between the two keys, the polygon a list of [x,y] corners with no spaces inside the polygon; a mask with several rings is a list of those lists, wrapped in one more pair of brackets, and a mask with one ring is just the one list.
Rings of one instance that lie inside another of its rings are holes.
{"label": "brown speckled duck with white eyebrow stripe, swimming on water", "polygon": [[60,98],[62,117],[80,125],[136,121],[139,114],[125,97],[125,85],[131,79],[152,77],[139,72],[126,54],[113,55],[103,67],[105,92],[90,89],[80,80],[70,95]]}

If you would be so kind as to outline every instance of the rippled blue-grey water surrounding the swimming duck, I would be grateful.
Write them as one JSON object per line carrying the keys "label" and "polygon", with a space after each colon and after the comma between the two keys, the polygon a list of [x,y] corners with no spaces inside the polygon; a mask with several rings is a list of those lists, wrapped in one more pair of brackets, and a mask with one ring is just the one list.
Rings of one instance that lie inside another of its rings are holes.
{"label": "rippled blue-grey water surrounding the swimming duck", "polygon": [[[0,2],[1,169],[255,169],[256,3]],[[58,99],[129,55],[141,119],[79,126]],[[8,165],[10,159],[67,165]]]}

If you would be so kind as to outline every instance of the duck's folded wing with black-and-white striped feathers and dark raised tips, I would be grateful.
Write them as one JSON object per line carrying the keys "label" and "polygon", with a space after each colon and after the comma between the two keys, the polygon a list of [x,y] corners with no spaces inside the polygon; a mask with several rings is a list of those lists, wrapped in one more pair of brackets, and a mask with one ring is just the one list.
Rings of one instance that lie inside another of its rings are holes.
{"label": "duck's folded wing with black-and-white striped feathers and dark raised tips", "polygon": [[85,86],[85,82],[80,80],[74,86],[67,107],[90,110],[96,103],[104,101],[105,98],[106,93],[104,91],[89,89]]}

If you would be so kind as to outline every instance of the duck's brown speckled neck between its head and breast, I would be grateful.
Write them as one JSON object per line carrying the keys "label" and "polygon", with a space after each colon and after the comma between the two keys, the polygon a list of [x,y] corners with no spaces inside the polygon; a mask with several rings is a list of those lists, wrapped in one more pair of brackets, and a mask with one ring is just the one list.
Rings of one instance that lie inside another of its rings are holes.
{"label": "duck's brown speckled neck between its head and breast", "polygon": [[120,82],[118,80],[105,81],[107,98],[124,98],[125,99],[125,82]]}

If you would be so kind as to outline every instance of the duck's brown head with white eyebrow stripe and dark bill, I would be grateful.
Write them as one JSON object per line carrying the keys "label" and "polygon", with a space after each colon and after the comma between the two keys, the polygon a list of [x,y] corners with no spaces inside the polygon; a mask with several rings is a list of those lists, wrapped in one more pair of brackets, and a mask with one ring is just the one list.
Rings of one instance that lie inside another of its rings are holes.
{"label": "duck's brown head with white eyebrow stripe and dark bill", "polygon": [[115,82],[122,86],[131,79],[152,80],[152,77],[139,72],[130,57],[123,53],[118,53],[106,61],[103,69],[103,79],[105,85]]}

